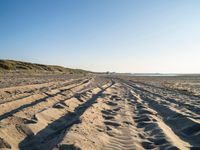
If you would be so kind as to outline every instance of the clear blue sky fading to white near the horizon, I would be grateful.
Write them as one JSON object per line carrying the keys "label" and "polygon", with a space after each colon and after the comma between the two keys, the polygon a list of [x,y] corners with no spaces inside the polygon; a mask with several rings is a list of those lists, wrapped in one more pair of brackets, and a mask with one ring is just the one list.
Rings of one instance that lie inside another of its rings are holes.
{"label": "clear blue sky fading to white near the horizon", "polygon": [[0,59],[200,73],[200,1],[1,0]]}

